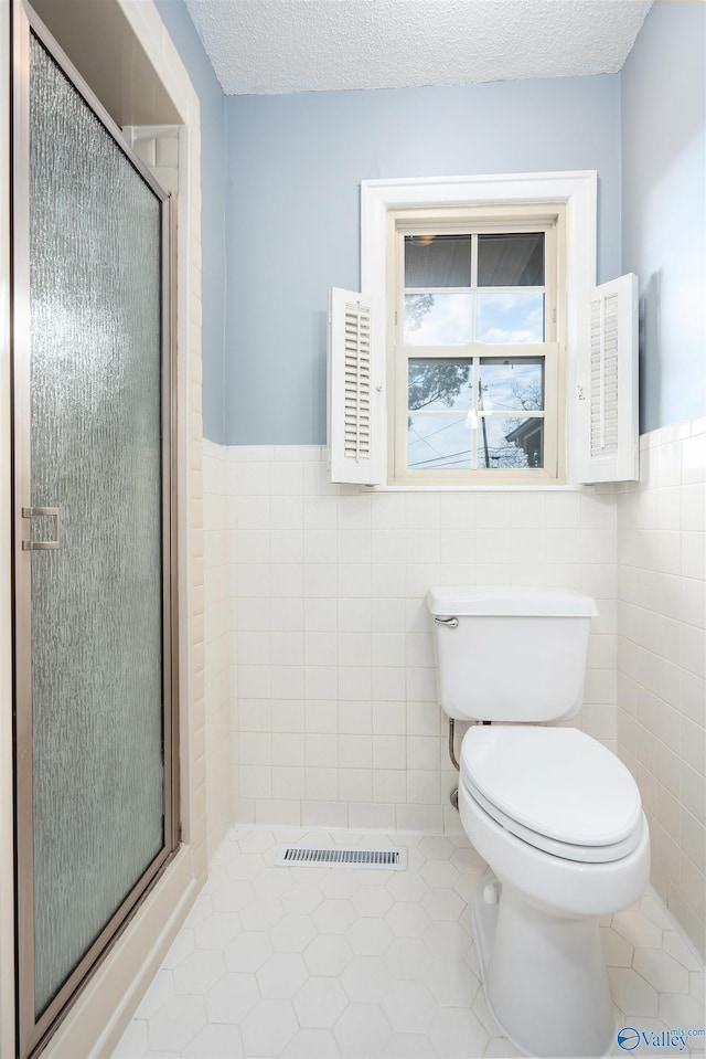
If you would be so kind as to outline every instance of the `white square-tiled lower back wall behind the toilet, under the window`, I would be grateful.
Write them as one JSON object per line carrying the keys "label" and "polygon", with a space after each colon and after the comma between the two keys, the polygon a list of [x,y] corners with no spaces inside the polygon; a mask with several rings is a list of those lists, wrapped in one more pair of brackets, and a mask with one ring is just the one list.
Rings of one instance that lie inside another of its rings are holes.
{"label": "white square-tiled lower back wall behind the toilet, under the window", "polygon": [[[206,679],[218,717],[233,680],[235,822],[459,830],[425,606],[432,584],[593,595],[600,617],[578,723],[616,748],[610,493],[371,494],[331,486],[325,472],[315,446],[206,447],[206,599],[216,612]],[[224,731],[225,721],[216,756]],[[208,769],[220,797],[211,760]]]}

